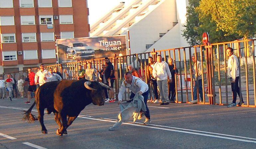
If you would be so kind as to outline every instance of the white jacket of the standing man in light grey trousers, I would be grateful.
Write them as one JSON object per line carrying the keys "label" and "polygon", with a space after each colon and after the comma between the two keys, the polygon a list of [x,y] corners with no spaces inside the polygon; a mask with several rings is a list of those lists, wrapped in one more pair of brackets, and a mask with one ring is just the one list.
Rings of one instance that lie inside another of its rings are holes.
{"label": "white jacket of the standing man in light grey trousers", "polygon": [[157,77],[157,81],[167,80],[168,77],[171,79],[172,74],[168,64],[165,61],[156,62],[153,67],[153,76],[154,78]]}

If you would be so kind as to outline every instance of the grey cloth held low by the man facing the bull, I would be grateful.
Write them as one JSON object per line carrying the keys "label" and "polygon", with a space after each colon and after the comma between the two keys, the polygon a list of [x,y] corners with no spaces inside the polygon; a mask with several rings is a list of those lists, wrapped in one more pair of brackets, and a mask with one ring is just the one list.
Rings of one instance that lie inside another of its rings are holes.
{"label": "grey cloth held low by the man facing the bull", "polygon": [[140,111],[146,112],[146,105],[142,95],[135,94],[132,102],[123,102],[120,104],[121,112],[117,115],[117,122],[109,130],[117,129],[123,121],[127,121],[133,116],[133,123],[138,119]]}

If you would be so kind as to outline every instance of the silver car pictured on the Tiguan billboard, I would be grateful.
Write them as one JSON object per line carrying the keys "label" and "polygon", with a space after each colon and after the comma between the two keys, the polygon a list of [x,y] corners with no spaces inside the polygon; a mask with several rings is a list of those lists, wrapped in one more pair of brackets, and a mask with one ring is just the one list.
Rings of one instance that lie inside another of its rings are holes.
{"label": "silver car pictured on the Tiguan billboard", "polygon": [[67,47],[66,58],[76,60],[77,58],[94,58],[95,50],[82,42],[71,43]]}

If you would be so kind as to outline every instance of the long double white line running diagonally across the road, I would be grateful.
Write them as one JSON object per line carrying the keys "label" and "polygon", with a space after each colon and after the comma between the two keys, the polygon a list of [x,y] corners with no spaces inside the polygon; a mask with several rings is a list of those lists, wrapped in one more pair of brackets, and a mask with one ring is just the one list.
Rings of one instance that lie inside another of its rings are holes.
{"label": "long double white line running diagonally across the road", "polygon": [[[6,107],[6,106],[0,106],[0,108],[8,108],[8,109],[18,109],[18,110],[28,110],[25,108],[19,108],[19,107]],[[32,110],[37,111],[37,110]],[[96,121],[103,121],[103,122],[110,122],[110,123],[116,123],[117,120],[115,119],[108,119],[108,118],[93,118],[92,116],[86,116],[86,115],[79,115],[78,118],[83,119],[89,119],[89,120],[96,120]],[[164,126],[164,125],[156,125],[156,124],[148,124],[143,125],[142,123],[122,123],[127,125],[133,125],[133,126],[139,126],[139,127],[147,127],[147,128],[153,128],[153,129],[160,129],[160,130],[167,130],[167,131],[174,131],[174,132],[181,132],[181,133],[189,133],[189,134],[195,134],[195,135],[202,135],[202,136],[209,136],[209,137],[215,137],[215,138],[222,138],[222,139],[229,139],[229,140],[236,140],[236,141],[243,141],[243,142],[251,142],[256,143],[256,138],[249,138],[249,137],[243,137],[243,136],[235,136],[235,135],[228,135],[228,134],[222,134],[222,133],[214,133],[214,132],[207,132],[207,131],[200,131],[200,130],[192,130],[192,129],[185,129],[185,128],[178,128],[178,127],[170,127],[170,126]],[[161,128],[164,127],[164,128]],[[172,128],[172,129],[170,129]],[[175,130],[180,129],[180,130]],[[187,131],[185,131],[187,130]],[[193,131],[193,132],[190,132]],[[200,132],[200,133],[198,133]],[[208,133],[208,134],[205,134]],[[215,135],[212,135],[215,134]],[[227,137],[226,137],[227,136]],[[232,138],[234,137],[234,138]],[[239,139],[243,138],[243,139]],[[248,139],[248,140],[245,140]]]}

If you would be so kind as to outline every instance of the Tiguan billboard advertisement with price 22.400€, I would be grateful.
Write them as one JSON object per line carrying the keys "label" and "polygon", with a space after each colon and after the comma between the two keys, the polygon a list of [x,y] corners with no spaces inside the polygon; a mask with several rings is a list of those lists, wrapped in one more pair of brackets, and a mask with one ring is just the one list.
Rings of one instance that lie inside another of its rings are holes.
{"label": "Tiguan billboard advertisement with price 22.400\u20ac", "polygon": [[57,39],[58,63],[126,55],[125,35]]}

